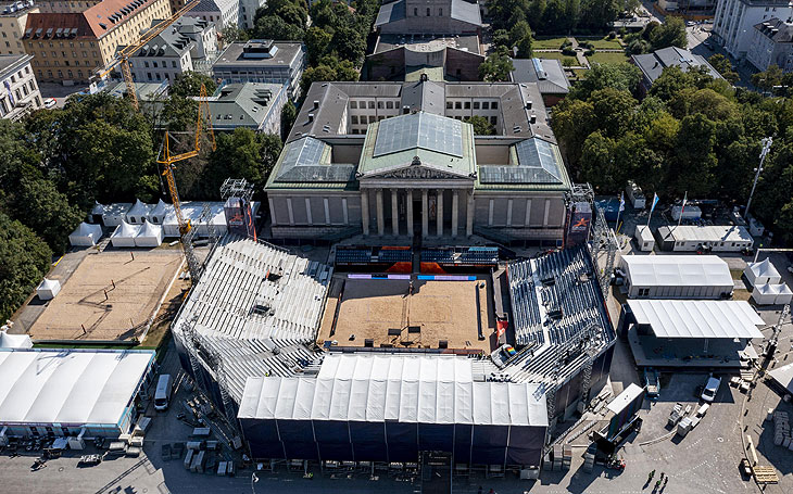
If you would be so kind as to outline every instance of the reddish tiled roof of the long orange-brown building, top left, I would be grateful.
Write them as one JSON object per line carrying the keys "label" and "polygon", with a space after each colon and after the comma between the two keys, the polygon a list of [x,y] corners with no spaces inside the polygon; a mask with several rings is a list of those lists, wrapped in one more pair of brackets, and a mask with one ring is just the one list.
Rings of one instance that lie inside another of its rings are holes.
{"label": "reddish tiled roof of the long orange-brown building, top left", "polygon": [[101,38],[154,2],[102,0],[84,12],[30,14],[24,38]]}

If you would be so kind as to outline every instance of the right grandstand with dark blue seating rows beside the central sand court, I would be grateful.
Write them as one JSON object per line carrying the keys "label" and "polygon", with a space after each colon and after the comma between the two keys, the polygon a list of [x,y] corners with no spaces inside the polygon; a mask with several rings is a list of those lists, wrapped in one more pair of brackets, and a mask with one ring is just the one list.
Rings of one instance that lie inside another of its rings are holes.
{"label": "right grandstand with dark blue seating rows beside the central sand court", "polygon": [[540,384],[553,426],[603,388],[616,333],[584,246],[511,263],[507,276],[520,350],[502,373]]}

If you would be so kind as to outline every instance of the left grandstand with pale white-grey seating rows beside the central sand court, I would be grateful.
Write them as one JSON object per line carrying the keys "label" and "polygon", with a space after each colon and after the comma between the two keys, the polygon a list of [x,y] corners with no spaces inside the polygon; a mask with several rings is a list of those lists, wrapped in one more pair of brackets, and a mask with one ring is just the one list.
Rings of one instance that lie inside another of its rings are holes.
{"label": "left grandstand with pale white-grey seating rows beside the central sand court", "polygon": [[182,367],[234,417],[249,377],[310,365],[332,269],[227,235],[174,321]]}

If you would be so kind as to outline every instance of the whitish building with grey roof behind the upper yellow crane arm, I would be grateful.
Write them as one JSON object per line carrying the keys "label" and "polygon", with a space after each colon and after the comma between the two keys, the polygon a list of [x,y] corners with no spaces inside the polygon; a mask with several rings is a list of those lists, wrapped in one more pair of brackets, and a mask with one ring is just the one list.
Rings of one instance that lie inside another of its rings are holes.
{"label": "whitish building with grey roof behind the upper yellow crane arm", "polygon": [[[154,27],[160,20],[152,21]],[[122,49],[124,47],[118,47]],[[136,81],[176,80],[185,72],[197,71],[217,52],[215,25],[197,17],[181,17],[159,34],[130,59]]]}

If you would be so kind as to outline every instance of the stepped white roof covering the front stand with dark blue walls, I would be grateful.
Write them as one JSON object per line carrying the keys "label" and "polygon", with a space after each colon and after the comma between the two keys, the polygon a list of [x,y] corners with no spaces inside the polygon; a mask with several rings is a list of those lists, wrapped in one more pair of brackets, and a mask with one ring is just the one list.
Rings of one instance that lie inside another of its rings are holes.
{"label": "stepped white roof covering the front stand with dark blue walls", "polygon": [[328,355],[316,379],[249,378],[239,418],[547,426],[538,384],[474,382],[457,357]]}

